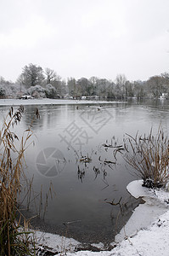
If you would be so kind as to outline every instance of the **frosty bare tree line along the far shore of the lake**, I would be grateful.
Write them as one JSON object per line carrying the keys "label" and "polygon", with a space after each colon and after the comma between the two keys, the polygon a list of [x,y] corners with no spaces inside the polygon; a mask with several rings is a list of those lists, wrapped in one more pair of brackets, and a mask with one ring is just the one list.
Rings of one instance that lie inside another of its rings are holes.
{"label": "frosty bare tree line along the far shore of the lake", "polygon": [[132,96],[158,98],[162,95],[169,98],[169,73],[152,76],[146,81],[129,81],[124,74],[118,74],[114,81],[98,77],[68,78],[65,81],[53,69],[43,70],[42,67],[31,63],[22,68],[22,73],[15,83],[0,77],[0,96],[10,96],[14,93],[48,98],[86,96],[124,99]]}

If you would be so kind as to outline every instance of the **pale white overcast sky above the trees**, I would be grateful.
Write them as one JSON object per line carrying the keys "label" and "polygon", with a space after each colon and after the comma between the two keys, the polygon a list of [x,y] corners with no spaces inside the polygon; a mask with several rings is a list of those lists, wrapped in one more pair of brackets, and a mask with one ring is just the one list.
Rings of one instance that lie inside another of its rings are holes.
{"label": "pale white overcast sky above the trees", "polygon": [[0,0],[0,76],[29,63],[62,79],[169,72],[169,1]]}

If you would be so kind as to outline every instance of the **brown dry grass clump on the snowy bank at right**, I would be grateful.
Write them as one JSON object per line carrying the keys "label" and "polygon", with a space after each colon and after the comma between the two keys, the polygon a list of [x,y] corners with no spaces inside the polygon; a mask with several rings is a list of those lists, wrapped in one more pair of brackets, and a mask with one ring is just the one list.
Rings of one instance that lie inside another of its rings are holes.
{"label": "brown dry grass clump on the snowy bank at right", "polygon": [[166,186],[169,181],[169,140],[161,126],[156,136],[152,129],[147,137],[138,136],[138,133],[135,137],[127,134],[124,146],[124,158],[135,174],[143,179],[143,186],[150,189]]}

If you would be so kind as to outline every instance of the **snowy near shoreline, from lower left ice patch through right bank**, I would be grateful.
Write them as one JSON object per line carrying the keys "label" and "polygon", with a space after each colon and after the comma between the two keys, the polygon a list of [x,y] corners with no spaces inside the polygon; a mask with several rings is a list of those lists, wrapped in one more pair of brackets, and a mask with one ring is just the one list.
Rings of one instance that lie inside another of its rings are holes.
{"label": "snowy near shoreline, from lower left ice patch through right bank", "polygon": [[[135,198],[142,197],[144,204],[139,205],[132,213],[132,217],[115,236],[114,247],[110,251],[103,251],[103,244],[93,244],[100,248],[100,252],[75,252],[80,242],[49,233],[36,231],[37,243],[53,248],[61,255],[168,255],[169,252],[169,193],[163,189],[153,190],[142,186],[142,181],[133,181],[127,185],[128,192]],[[42,254],[41,254],[42,255]],[[54,254],[53,254],[54,255]]]}

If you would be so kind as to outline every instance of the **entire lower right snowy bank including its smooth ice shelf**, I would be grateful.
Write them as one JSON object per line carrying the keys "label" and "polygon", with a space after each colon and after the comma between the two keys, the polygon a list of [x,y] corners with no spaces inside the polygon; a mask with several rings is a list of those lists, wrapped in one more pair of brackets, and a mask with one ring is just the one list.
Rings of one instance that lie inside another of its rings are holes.
{"label": "entire lower right snowy bank including its smooth ice shelf", "polygon": [[169,193],[163,189],[146,189],[142,181],[130,183],[127,189],[134,197],[143,197],[145,203],[135,209],[126,226],[115,237],[115,241],[121,242],[110,252],[86,251],[67,255],[169,255]]}

